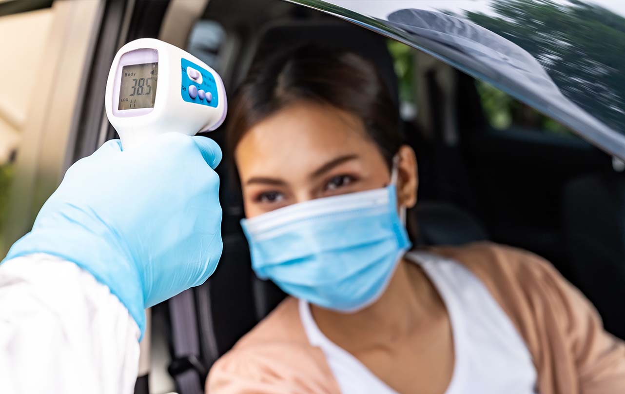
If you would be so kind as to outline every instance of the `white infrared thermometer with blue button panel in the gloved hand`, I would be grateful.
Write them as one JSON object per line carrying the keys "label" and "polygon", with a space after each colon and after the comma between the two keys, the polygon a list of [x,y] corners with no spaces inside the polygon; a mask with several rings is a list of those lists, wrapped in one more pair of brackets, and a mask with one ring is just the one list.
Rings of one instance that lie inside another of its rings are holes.
{"label": "white infrared thermometer with blue button panel in the gloved hand", "polygon": [[219,74],[183,49],[141,38],[115,55],[106,82],[106,116],[124,150],[156,134],[214,130],[226,111]]}

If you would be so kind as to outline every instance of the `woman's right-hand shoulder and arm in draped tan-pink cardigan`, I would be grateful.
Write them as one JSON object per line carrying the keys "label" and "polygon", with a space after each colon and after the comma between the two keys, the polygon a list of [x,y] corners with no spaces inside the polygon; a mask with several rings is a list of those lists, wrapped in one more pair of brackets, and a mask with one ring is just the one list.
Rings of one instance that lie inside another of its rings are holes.
{"label": "woman's right-hand shoulder and arm in draped tan-pink cardigan", "polygon": [[591,303],[549,262],[492,243],[434,253],[466,266],[486,285],[526,341],[541,391],[622,391],[625,343],[604,331]]}

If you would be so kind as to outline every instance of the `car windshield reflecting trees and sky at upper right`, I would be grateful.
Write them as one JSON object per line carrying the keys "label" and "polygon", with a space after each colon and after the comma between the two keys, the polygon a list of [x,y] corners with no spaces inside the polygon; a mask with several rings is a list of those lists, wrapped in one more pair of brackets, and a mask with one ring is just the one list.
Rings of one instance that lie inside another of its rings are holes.
{"label": "car windshield reflecting trees and sky at upper right", "polygon": [[[494,84],[625,158],[625,2],[304,0]],[[495,33],[495,34],[493,34]]]}

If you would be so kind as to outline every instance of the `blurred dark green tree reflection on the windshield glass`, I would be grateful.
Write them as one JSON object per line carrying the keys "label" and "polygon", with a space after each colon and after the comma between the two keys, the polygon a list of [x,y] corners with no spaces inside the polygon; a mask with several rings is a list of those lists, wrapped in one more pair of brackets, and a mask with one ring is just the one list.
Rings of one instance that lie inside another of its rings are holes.
{"label": "blurred dark green tree reflection on the windshield glass", "polygon": [[625,18],[573,0],[493,0],[466,18],[532,54],[567,98],[625,131]]}

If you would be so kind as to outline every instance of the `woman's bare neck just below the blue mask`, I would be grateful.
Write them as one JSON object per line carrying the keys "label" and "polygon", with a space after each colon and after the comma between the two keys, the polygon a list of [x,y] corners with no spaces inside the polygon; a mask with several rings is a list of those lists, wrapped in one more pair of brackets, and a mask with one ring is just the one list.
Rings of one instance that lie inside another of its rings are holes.
{"label": "woman's bare neck just below the blue mask", "polygon": [[442,300],[425,273],[404,259],[379,300],[363,310],[340,313],[311,304],[322,333],[351,352],[413,335],[441,308]]}

